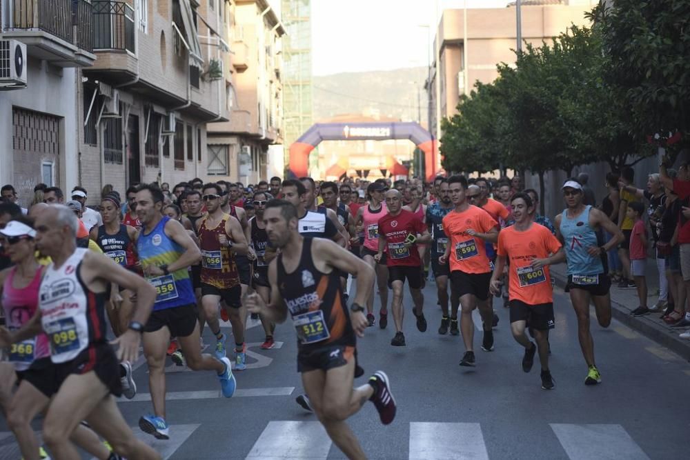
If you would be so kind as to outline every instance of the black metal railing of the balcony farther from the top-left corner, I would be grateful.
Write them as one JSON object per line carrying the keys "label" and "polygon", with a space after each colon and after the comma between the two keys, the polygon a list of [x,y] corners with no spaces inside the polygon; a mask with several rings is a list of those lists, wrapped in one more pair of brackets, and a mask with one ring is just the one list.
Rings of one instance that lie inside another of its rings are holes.
{"label": "black metal railing of the balcony farther from the top-left corner", "polygon": [[124,1],[91,2],[95,50],[127,50],[135,53],[134,9]]}

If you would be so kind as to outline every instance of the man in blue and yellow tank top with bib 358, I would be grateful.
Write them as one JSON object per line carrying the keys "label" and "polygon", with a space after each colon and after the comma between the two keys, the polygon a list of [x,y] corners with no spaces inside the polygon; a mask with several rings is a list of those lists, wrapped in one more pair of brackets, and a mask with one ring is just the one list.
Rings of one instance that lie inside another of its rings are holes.
{"label": "man in blue and yellow tank top with bib 358", "polygon": [[236,386],[228,358],[218,360],[199,350],[199,321],[188,267],[201,259],[201,252],[181,223],[161,215],[163,199],[156,186],[137,188],[137,215],[144,226],[137,250],[144,275],[156,288],[153,312],[143,327],[154,414],[141,417],[139,428],[157,439],[168,439],[169,432],[165,360],[171,336],[177,337],[191,370],[215,370],[224,397],[231,397]]}

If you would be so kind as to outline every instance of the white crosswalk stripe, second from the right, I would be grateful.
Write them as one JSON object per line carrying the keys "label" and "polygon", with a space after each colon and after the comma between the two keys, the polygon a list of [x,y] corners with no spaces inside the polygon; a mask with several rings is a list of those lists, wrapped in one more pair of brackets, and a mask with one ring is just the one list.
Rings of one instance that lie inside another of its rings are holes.
{"label": "white crosswalk stripe, second from the right", "polygon": [[479,423],[410,423],[411,460],[488,460]]}

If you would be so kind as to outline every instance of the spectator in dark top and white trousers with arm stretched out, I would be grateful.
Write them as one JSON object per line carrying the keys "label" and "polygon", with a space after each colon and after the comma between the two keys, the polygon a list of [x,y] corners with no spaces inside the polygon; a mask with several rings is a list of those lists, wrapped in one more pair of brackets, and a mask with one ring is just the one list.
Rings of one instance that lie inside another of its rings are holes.
{"label": "spectator in dark top and white trousers with arm stretched out", "polygon": [[659,180],[659,174],[657,172],[649,174],[649,177],[647,177],[647,190],[635,188],[634,186],[626,186],[624,189],[627,192],[635,194],[636,198],[644,198],[649,201],[649,207],[647,208],[647,216],[649,218],[649,234],[651,235],[651,239],[654,244],[656,268],[659,272],[659,299],[657,303],[650,308],[650,310],[661,310],[666,306],[669,298],[669,283],[666,279],[666,262],[664,261],[665,256],[664,254],[659,254],[659,252],[656,250],[656,243],[659,240],[657,224],[660,222],[667,196],[666,193],[664,193],[664,187]]}

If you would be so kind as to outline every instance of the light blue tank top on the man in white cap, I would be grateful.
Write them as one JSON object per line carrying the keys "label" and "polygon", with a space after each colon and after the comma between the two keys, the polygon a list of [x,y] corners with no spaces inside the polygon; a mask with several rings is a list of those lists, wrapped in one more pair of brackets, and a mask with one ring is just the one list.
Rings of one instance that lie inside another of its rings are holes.
{"label": "light blue tank top on the man in white cap", "polygon": [[575,219],[568,218],[568,210],[561,216],[560,232],[563,236],[565,255],[568,259],[567,274],[600,274],[604,273],[601,257],[592,257],[587,252],[591,246],[599,246],[597,234],[589,225],[589,210],[584,211]]}

